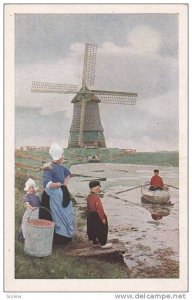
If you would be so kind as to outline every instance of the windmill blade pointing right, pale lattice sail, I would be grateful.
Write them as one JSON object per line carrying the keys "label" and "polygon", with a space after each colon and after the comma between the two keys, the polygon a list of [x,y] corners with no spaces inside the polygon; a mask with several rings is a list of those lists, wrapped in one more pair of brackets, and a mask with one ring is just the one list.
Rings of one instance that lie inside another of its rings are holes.
{"label": "windmill blade pointing right, pale lattice sail", "polygon": [[124,104],[124,105],[134,105],[136,104],[136,93],[126,93],[126,92],[114,92],[114,91],[97,91],[92,90],[92,92],[101,100],[101,103],[108,104]]}

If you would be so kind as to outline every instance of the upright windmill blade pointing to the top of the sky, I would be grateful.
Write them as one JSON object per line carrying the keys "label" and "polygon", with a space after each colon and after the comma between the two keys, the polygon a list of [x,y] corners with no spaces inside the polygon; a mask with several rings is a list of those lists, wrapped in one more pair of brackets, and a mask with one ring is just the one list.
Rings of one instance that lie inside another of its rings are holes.
{"label": "upright windmill blade pointing to the top of the sky", "polygon": [[94,85],[96,51],[97,51],[97,45],[85,44],[83,80],[82,80],[83,87]]}

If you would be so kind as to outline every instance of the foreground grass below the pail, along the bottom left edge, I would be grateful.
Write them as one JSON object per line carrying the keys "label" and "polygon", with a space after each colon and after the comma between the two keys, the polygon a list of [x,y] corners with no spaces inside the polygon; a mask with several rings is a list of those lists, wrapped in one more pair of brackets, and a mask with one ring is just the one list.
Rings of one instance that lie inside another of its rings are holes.
{"label": "foreground grass below the pail, along the bottom left edge", "polygon": [[69,257],[65,248],[53,247],[50,256],[36,258],[16,242],[15,278],[17,279],[99,279],[128,278],[128,269],[119,262],[94,258]]}

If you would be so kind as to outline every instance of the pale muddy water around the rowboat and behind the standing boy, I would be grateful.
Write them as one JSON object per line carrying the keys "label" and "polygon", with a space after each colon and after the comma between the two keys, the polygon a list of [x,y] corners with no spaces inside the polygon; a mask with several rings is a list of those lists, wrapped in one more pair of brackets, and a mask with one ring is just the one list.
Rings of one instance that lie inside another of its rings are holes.
{"label": "pale muddy water around the rowboat and behind the standing boy", "polygon": [[[157,168],[158,166],[155,166]],[[164,183],[179,186],[179,170],[176,167],[158,167]],[[69,189],[78,206],[86,207],[88,183],[98,179],[104,193],[102,203],[108,217],[109,239],[118,238],[126,247],[124,261],[132,276],[142,270],[179,261],[179,192],[170,188],[173,206],[143,204],[140,188],[117,194],[142,185],[153,175],[154,166],[122,164],[73,165]],[[118,198],[117,198],[118,197]],[[154,220],[155,211],[164,213]],[[81,229],[82,230],[82,229]],[[83,232],[86,235],[86,227]]]}

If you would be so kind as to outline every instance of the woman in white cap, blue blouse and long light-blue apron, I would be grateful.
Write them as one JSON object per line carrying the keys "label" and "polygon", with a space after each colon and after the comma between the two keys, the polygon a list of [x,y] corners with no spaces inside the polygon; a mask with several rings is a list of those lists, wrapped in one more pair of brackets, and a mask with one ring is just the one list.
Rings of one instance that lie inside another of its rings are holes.
{"label": "woman in white cap, blue blouse and long light-blue apron", "polygon": [[43,172],[41,205],[51,211],[52,217],[41,209],[39,218],[55,222],[53,244],[65,245],[72,240],[74,232],[73,206],[67,188],[71,173],[63,166],[64,153],[60,145],[52,144],[49,154],[53,160]]}

